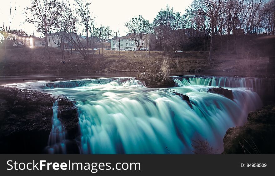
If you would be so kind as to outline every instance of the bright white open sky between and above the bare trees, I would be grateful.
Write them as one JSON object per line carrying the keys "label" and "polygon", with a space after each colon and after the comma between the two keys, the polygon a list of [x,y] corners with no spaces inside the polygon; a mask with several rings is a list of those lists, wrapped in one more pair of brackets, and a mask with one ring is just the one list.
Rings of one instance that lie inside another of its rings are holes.
{"label": "bright white open sky between and above the bare trees", "polygon": [[[95,17],[96,26],[101,24],[104,26],[110,26],[113,31],[120,32],[120,36],[125,36],[128,33],[128,29],[124,26],[125,22],[131,18],[142,15],[143,18],[148,19],[149,22],[153,22],[158,12],[165,8],[167,4],[173,7],[175,12],[185,12],[187,6],[190,5],[192,0],[87,0],[92,2],[92,15]],[[1,26],[7,24],[9,21],[9,8],[12,2],[12,14],[14,14],[14,7],[16,6],[16,12],[11,23],[11,29],[23,29],[27,31],[29,35],[34,31],[35,36],[42,36],[42,34],[36,32],[36,28],[24,23],[24,15],[22,12],[26,6],[31,4],[30,0],[1,0],[0,6],[0,22]],[[73,0],[70,0],[73,2]]]}

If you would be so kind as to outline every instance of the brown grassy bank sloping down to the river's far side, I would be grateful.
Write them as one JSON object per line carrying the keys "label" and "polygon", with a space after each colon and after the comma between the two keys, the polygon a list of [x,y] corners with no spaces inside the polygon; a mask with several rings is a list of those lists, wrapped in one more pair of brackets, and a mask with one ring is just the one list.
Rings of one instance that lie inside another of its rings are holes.
{"label": "brown grassy bank sloping down to the river's far side", "polygon": [[[89,73],[95,71],[160,71],[160,66],[167,58],[162,51],[98,51],[94,59],[84,60],[76,51],[72,55],[62,54],[56,48],[49,48],[49,54],[42,47],[8,49],[4,62],[4,50],[0,50],[1,73],[47,73],[71,72]],[[168,62],[173,71],[265,71],[268,58],[243,59],[233,54],[214,53],[213,60],[207,60],[208,52],[183,52],[175,56],[168,53]]]}

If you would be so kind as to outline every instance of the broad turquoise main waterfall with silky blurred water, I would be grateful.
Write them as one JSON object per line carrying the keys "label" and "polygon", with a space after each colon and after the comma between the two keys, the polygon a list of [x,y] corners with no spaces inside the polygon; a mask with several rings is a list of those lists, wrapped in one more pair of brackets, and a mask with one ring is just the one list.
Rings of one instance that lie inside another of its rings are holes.
{"label": "broad turquoise main waterfall with silky blurred water", "polygon": [[[207,140],[222,152],[226,130],[242,125],[247,112],[262,106],[250,79],[173,78],[177,87],[161,89],[146,88],[134,78],[42,81],[13,86],[75,100],[81,131],[79,148],[83,154],[168,154],[168,150],[171,154],[189,154],[193,150],[192,140],[198,139]],[[234,100],[206,92],[215,86],[231,89]],[[192,107],[175,92],[190,97]],[[62,124],[56,124],[62,129]]]}

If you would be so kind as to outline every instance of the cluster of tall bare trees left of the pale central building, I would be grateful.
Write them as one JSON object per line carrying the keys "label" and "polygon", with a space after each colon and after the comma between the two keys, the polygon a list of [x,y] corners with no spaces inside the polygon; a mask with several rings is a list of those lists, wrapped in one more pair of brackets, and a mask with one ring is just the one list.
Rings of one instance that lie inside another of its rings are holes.
{"label": "cluster of tall bare trees left of the pale central building", "polygon": [[[91,2],[75,0],[32,0],[32,5],[26,7],[27,22],[32,23],[37,31],[45,36],[45,46],[48,47],[49,33],[56,33],[59,48],[63,53],[69,48],[77,50],[84,59],[93,55],[95,37],[98,37],[99,45],[107,40],[112,33],[109,26],[95,28],[95,19],[92,17]],[[29,15],[31,14],[31,15]],[[85,36],[81,36],[84,33]],[[52,36],[52,35],[51,35]],[[53,36],[52,36],[53,37]],[[86,40],[84,42],[84,40]]]}

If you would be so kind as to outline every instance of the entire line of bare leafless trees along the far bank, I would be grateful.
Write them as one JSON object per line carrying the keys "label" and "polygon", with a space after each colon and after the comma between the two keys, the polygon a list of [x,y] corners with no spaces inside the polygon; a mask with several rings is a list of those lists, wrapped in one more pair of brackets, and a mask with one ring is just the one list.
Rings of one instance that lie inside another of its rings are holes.
{"label": "entire line of bare leafless trees along the far bank", "polygon": [[[66,51],[69,53],[71,49],[72,52],[74,48],[84,59],[88,59],[93,55],[91,49],[95,42],[98,42],[100,48],[102,42],[113,34],[109,26],[95,28],[92,10],[92,4],[82,0],[75,0],[74,3],[68,0],[32,0],[31,6],[26,7],[24,13],[26,21],[43,33],[45,39],[50,33],[58,34],[58,45],[63,56]],[[163,50],[173,50],[175,54],[184,45],[188,35],[188,40],[194,43],[203,40],[203,48],[209,51],[208,59],[212,60],[214,38],[220,40],[221,45],[224,45],[222,40],[226,38],[226,53],[229,41],[234,40],[234,52],[237,53],[236,37],[240,29],[243,29],[245,35],[274,35],[274,21],[275,0],[194,0],[184,14],[175,12],[167,5],[158,12],[152,23],[138,16],[126,22],[125,26],[129,30],[130,38],[136,43],[137,50],[145,43],[150,45],[152,39],[149,34],[154,33]],[[12,31],[4,24],[1,27],[4,39],[7,39],[8,34],[13,33],[16,36],[18,32],[20,30]],[[84,37],[80,36],[81,33]],[[45,46],[49,46],[48,40],[45,40]]]}

